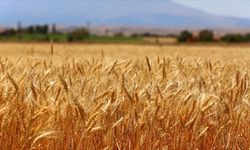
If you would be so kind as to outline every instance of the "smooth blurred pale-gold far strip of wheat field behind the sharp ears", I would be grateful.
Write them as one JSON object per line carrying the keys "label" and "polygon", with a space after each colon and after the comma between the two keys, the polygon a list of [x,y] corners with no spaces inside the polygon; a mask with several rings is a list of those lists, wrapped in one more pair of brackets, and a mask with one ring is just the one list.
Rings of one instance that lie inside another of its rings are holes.
{"label": "smooth blurred pale-gold far strip of wheat field behind the sharp ears", "polygon": [[[140,45],[54,43],[54,57],[77,59],[144,59],[145,56],[189,57],[202,59],[249,59],[248,45]],[[0,43],[1,57],[42,57],[50,55],[50,43]]]}

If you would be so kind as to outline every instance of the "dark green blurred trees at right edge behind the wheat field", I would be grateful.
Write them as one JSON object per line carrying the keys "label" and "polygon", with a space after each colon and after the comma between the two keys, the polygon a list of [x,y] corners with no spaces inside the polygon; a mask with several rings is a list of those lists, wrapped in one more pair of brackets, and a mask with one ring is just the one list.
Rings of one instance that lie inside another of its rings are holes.
{"label": "dark green blurred trees at right edge behind the wheat field", "polygon": [[238,34],[230,33],[225,34],[219,38],[215,38],[212,30],[201,30],[197,36],[188,30],[182,31],[177,37],[178,42],[226,42],[226,43],[245,43],[250,42],[250,33]]}

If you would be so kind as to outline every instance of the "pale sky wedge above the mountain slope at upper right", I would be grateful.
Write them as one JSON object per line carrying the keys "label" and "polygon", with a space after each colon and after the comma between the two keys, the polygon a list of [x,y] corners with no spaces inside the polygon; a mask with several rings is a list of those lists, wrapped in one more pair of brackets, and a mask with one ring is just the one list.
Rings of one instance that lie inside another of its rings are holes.
{"label": "pale sky wedge above the mountain slope at upper right", "polygon": [[250,0],[173,0],[218,15],[250,18]]}

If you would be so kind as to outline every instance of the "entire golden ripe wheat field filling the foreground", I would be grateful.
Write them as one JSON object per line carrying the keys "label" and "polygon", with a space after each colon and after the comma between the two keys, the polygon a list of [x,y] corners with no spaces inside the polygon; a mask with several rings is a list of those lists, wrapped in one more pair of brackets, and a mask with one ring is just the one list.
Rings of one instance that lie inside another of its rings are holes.
{"label": "entire golden ripe wheat field filling the foreground", "polygon": [[0,43],[0,149],[247,150],[249,52]]}

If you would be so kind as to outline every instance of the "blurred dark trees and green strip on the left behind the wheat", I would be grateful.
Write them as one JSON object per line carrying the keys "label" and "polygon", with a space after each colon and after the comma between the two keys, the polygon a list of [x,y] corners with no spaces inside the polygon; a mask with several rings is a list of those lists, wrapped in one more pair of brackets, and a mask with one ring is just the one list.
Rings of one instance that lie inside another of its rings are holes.
{"label": "blurred dark trees and green strip on the left behind the wheat", "polygon": [[59,32],[55,25],[49,28],[48,25],[35,25],[18,29],[7,29],[0,33],[0,41],[24,41],[24,42],[118,42],[118,43],[141,43],[141,37],[124,36],[122,32],[116,33],[113,36],[98,36],[92,35],[85,28],[76,28],[72,32]]}

